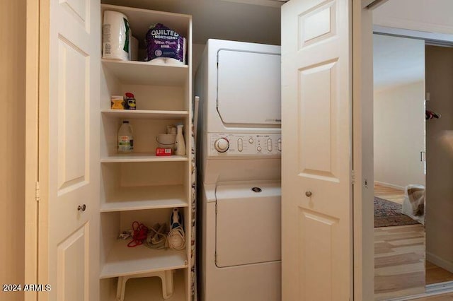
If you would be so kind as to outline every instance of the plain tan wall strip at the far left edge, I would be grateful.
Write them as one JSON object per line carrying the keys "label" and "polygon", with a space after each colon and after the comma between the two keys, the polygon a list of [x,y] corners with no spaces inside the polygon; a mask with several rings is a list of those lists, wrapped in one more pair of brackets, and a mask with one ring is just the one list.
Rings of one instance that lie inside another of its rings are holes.
{"label": "plain tan wall strip at the far left edge", "polygon": [[[2,0],[0,9],[0,284],[24,281],[25,4]],[[0,300],[23,300],[23,294],[0,291]]]}

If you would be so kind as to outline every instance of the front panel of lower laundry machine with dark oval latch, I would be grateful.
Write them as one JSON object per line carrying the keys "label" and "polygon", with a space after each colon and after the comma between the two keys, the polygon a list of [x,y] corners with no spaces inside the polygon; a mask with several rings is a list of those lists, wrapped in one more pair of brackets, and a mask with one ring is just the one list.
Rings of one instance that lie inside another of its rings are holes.
{"label": "front panel of lower laundry machine with dark oval latch", "polygon": [[281,260],[280,183],[219,185],[216,198],[217,266]]}

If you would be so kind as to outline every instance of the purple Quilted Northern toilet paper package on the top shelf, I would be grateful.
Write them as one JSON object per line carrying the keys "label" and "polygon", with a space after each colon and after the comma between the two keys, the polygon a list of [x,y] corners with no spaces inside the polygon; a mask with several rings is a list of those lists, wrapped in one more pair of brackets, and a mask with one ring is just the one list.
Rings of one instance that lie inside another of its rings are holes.
{"label": "purple Quilted Northern toilet paper package on the top shelf", "polygon": [[186,40],[176,31],[157,23],[149,26],[145,37],[147,59],[159,64],[185,64]]}

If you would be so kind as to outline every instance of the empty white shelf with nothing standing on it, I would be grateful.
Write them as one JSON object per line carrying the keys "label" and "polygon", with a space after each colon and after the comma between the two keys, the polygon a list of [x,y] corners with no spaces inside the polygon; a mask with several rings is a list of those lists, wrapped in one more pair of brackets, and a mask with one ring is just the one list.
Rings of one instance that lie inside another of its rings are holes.
{"label": "empty white shelf with nothing standing on it", "polygon": [[118,187],[101,212],[188,207],[183,185]]}

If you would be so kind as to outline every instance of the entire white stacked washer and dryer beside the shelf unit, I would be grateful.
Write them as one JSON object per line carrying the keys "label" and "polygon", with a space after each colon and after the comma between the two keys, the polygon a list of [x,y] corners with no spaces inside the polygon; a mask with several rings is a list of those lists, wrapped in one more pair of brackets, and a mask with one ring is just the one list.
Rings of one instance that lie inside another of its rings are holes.
{"label": "entire white stacked washer and dryer beside the shelf unit", "polygon": [[208,40],[195,93],[202,300],[280,300],[280,47]]}

